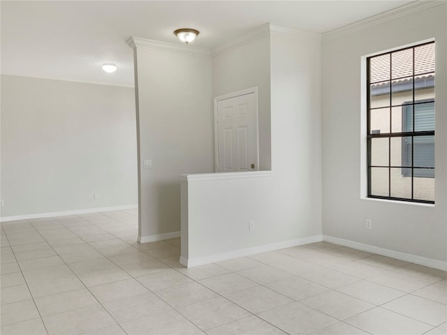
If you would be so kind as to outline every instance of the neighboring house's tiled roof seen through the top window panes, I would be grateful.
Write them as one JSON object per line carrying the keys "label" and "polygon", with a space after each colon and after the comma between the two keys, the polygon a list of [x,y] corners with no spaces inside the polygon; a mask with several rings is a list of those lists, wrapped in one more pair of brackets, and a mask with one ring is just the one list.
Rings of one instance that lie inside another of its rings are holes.
{"label": "neighboring house's tiled roof seen through the top window panes", "polygon": [[[390,68],[392,73],[390,73]],[[411,80],[411,78],[403,77],[413,75],[413,48],[372,57],[370,71],[369,82],[371,83],[390,80],[390,77],[391,79],[402,78],[398,82]],[[425,73],[424,78],[434,77],[434,43],[414,48],[414,73],[415,75]],[[384,83],[373,85],[373,87],[381,86],[381,84]]]}

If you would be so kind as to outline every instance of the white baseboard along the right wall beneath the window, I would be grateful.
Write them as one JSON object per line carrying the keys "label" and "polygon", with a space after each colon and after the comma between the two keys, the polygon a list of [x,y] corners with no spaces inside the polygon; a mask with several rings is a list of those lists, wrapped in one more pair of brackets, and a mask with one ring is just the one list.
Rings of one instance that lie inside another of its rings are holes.
{"label": "white baseboard along the right wall beneath the window", "polygon": [[383,255],[397,260],[404,260],[406,262],[416,263],[418,265],[425,265],[426,267],[434,267],[435,269],[447,270],[447,262],[443,260],[434,260],[433,258],[426,258],[418,255],[412,255],[411,253],[401,253],[400,251],[394,251],[386,248],[380,248],[379,246],[372,246],[356,241],[350,241],[349,239],[340,239],[339,237],[333,237],[329,235],[323,235],[323,241],[327,241],[333,244],[339,244],[340,246],[349,246],[368,253],[376,253],[377,255]]}

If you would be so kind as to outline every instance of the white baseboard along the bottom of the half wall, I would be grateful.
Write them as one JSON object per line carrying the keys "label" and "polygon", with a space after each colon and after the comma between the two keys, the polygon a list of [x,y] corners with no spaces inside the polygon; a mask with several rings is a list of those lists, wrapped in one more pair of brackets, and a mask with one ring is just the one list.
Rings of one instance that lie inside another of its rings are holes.
{"label": "white baseboard along the bottom of the half wall", "polygon": [[274,251],[282,248],[289,248],[291,246],[301,246],[302,244],[308,244],[313,242],[321,241],[322,235],[314,235],[309,237],[303,237],[302,239],[291,239],[288,241],[282,241],[272,244],[264,244],[263,246],[253,246],[251,248],[244,248],[235,251],[227,251],[225,253],[214,253],[213,255],[208,255],[198,258],[184,258],[180,257],[180,264],[185,267],[197,267],[198,265],[205,265],[214,262],[221,262],[222,260],[231,260],[233,258],[239,258],[249,255],[254,255],[256,253],[265,253],[268,251]]}

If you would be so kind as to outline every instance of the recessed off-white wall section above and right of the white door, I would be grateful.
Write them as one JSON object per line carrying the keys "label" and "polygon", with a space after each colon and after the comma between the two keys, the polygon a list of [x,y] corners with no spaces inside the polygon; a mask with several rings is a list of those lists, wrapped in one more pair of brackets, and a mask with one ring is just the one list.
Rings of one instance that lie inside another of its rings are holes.
{"label": "recessed off-white wall section above and right of the white door", "polygon": [[212,58],[212,95],[258,87],[259,170],[272,168],[270,140],[270,36],[268,25],[256,38]]}

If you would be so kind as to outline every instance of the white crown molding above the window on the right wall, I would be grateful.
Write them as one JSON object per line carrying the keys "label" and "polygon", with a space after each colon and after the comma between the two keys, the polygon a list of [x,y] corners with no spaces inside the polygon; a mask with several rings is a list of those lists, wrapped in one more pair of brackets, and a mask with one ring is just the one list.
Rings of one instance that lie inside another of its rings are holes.
{"label": "white crown molding above the window on the right wall", "polygon": [[338,38],[341,36],[346,36],[349,34],[353,34],[356,31],[360,31],[363,29],[367,29],[370,27],[374,27],[378,24],[382,24],[388,22],[390,20],[395,20],[399,17],[404,17],[406,15],[411,15],[413,13],[417,13],[421,10],[426,10],[428,8],[440,6],[442,4],[446,4],[446,0],[442,1],[424,1],[418,0],[411,3],[408,3],[399,8],[395,8],[392,10],[388,10],[384,13],[380,13],[374,15],[372,17],[367,17],[364,20],[360,20],[358,22],[354,22],[351,24],[347,24],[344,27],[340,27],[331,31],[327,31],[323,33],[323,40],[332,40],[334,38]]}

